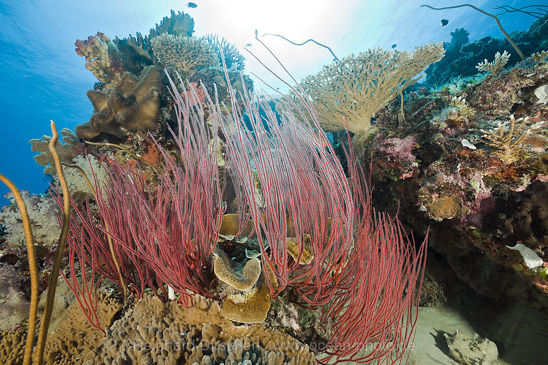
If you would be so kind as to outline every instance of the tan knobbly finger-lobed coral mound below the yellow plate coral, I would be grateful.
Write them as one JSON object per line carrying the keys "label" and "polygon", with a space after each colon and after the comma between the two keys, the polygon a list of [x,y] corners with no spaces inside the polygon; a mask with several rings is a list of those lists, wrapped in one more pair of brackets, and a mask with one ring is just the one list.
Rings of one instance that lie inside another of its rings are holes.
{"label": "tan knobbly finger-lobed coral mound below the yellow plate coral", "polygon": [[[191,308],[175,302],[162,303],[156,297],[144,297],[110,327],[106,338],[87,355],[84,364],[153,362],[175,365],[202,363],[202,359],[208,357],[203,360],[205,364],[207,360],[221,361],[225,351],[228,363],[232,364],[230,361],[236,362],[239,356],[234,345],[239,344],[249,351],[250,359],[256,351],[256,357],[266,356],[269,360],[273,357],[269,352],[273,351],[278,359],[275,364],[316,364],[307,345],[260,325],[234,326],[220,316],[219,305],[214,300],[201,296],[195,296]],[[232,346],[231,350],[227,350],[229,346]],[[245,352],[243,357],[246,357]],[[279,362],[282,359],[283,362]],[[211,363],[218,363],[214,361]]]}

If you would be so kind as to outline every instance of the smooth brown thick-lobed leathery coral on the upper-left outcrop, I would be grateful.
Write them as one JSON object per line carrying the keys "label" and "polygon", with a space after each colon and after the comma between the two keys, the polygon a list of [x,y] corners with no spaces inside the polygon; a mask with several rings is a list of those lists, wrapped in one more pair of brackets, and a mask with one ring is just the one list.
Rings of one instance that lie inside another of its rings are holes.
{"label": "smooth brown thick-lobed leathery coral on the upper-left outcrop", "polygon": [[89,122],[76,126],[76,135],[90,139],[105,132],[122,138],[128,131],[155,128],[162,88],[158,68],[147,66],[139,78],[126,72],[116,88],[88,90],[94,113]]}

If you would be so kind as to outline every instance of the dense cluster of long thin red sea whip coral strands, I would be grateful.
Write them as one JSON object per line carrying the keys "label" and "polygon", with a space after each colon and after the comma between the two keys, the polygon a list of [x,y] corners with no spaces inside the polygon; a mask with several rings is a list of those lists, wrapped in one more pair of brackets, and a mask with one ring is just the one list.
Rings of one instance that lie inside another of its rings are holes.
{"label": "dense cluster of long thin red sea whip coral strands", "polygon": [[[371,190],[364,186],[357,163],[349,164],[347,181],[332,148],[324,147],[327,138],[306,96],[302,98],[309,115],[299,118],[309,120],[304,125],[289,108],[278,124],[262,103],[269,120],[267,130],[259,119],[259,99],[252,100],[244,92],[254,134],[243,124],[235,92],[230,90],[232,112],[221,111],[219,103],[207,97],[213,125],[209,132],[202,104],[184,100],[173,82],[171,86],[179,121],[174,137],[180,161],[175,163],[159,147],[165,165],[155,191],[132,181],[136,177],[128,179],[127,169],[112,161],[113,181],[101,188],[109,196],[106,201],[101,201],[98,189],[100,217],[110,229],[94,222],[91,215],[82,215],[79,218],[88,222],[72,229],[72,252],[92,252],[92,259],[82,256],[81,260],[87,259],[99,271],[98,262],[110,260],[104,238],[110,235],[121,260],[127,255],[121,266],[125,275],[135,273],[136,287],[162,291],[165,282],[181,294],[181,301],[189,299],[187,290],[207,293],[207,281],[198,278],[215,246],[223,212],[218,153],[209,146],[217,146],[221,126],[240,221],[253,219],[263,267],[270,268],[279,285],[270,285],[272,296],[290,286],[309,304],[323,306],[324,320],[334,320],[328,355],[359,362],[401,360],[416,321],[414,288],[422,279],[426,240],[415,251],[397,218],[375,213]],[[193,90],[191,96],[198,99]],[[348,160],[356,161],[352,151]],[[259,198],[254,170],[261,187]],[[299,255],[302,237],[311,235],[312,263],[301,265],[288,257],[288,231],[297,237]],[[98,251],[104,251],[100,260]],[[100,274],[117,281],[108,266]],[[266,269],[264,276],[270,281]]]}

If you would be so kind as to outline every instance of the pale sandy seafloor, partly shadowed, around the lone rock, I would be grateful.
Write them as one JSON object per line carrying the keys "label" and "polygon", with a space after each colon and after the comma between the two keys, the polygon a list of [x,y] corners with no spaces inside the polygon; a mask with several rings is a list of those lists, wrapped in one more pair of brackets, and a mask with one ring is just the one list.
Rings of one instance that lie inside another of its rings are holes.
{"label": "pale sandy seafloor, partly shadowed, around the lone rock", "polygon": [[473,292],[448,298],[436,307],[421,307],[409,365],[458,364],[449,355],[444,333],[492,340],[499,351],[494,365],[548,363],[548,317],[520,303],[501,305]]}

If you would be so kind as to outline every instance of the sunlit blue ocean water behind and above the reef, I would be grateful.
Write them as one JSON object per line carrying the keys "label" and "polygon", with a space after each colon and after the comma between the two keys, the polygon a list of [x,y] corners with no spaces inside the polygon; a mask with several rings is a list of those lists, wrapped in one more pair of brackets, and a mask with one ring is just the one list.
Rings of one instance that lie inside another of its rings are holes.
{"label": "sunlit blue ocean water behind and above the reef", "polygon": [[[387,0],[333,1],[195,1],[188,8],[181,1],[0,1],[0,110],[3,130],[0,145],[3,156],[0,172],[20,189],[41,193],[47,189],[43,167],[33,160],[29,140],[51,135],[49,120],[58,129],[70,128],[89,120],[93,112],[85,91],[96,82],[84,68],[84,59],[75,53],[76,39],[85,39],[97,31],[110,38],[126,37],[136,31],[148,34],[170,9],[189,13],[196,22],[196,36],[218,33],[239,49],[259,33],[277,33],[302,42],[315,38],[329,45],[339,57],[380,46],[397,44],[401,50],[429,42],[449,41],[450,32],[464,27],[470,40],[484,36],[502,37],[493,19],[469,8],[435,11],[436,7],[457,5],[456,1]],[[513,1],[506,5],[522,7],[534,1]],[[473,3],[487,11],[498,1]],[[496,10],[495,10],[496,11]],[[442,27],[441,19],[449,20]],[[506,31],[526,30],[535,20],[531,16],[508,13],[500,16]],[[326,50],[313,44],[295,47],[278,38],[261,38],[299,80],[332,61]],[[251,49],[266,63],[264,50]],[[510,50],[511,51],[511,50]],[[264,58],[263,58],[264,57]],[[248,57],[250,59],[250,57]],[[248,62],[246,73],[264,77],[280,87],[258,62]],[[259,85],[260,89],[260,85]],[[0,186],[0,197],[8,189]],[[0,199],[0,205],[7,204]]]}

